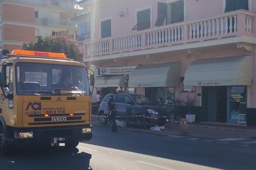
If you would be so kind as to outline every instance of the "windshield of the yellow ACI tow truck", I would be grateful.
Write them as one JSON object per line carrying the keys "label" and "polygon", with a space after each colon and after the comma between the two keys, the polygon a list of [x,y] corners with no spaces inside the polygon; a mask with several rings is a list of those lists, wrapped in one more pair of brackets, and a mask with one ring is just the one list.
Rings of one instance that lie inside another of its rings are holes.
{"label": "windshield of the yellow ACI tow truck", "polygon": [[15,70],[18,95],[89,95],[85,67],[20,62]]}

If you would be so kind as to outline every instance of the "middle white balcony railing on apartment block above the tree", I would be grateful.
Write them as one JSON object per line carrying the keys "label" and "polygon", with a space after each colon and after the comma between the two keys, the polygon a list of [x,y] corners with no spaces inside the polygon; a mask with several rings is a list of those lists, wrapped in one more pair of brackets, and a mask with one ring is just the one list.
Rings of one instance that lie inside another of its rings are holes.
{"label": "middle white balcony railing on apartment block above the tree", "polygon": [[70,20],[54,19],[54,18],[44,18],[43,25],[44,26],[66,27],[66,28],[76,28],[77,27],[76,22],[72,22]]}

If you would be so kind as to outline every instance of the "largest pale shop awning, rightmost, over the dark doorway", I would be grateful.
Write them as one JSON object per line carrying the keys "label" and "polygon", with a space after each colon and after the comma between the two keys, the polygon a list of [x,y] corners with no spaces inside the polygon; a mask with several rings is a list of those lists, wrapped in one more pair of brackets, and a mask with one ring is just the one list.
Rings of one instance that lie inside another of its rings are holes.
{"label": "largest pale shop awning, rightmost, over the dark doorway", "polygon": [[185,72],[184,86],[250,85],[252,56],[197,60]]}

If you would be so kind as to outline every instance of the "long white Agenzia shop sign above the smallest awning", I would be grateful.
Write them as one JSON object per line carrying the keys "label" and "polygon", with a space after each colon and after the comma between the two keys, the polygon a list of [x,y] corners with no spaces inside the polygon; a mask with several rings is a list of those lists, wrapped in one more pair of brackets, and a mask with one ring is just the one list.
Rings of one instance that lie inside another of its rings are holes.
{"label": "long white Agenzia shop sign above the smallest awning", "polygon": [[98,75],[121,75],[131,74],[137,66],[126,66],[126,67],[99,67]]}

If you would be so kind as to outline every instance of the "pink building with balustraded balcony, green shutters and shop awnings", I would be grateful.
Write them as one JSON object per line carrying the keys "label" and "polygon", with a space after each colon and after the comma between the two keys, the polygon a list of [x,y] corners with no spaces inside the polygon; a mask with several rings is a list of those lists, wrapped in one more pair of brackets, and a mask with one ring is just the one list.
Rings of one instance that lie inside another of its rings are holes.
{"label": "pink building with balustraded balcony, green shutters and shop awnings", "polygon": [[141,93],[170,108],[195,97],[196,121],[256,126],[256,1],[79,5],[90,9],[74,19],[83,60],[97,68],[95,87],[103,94]]}

